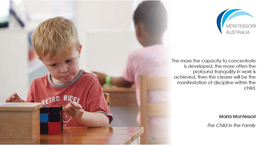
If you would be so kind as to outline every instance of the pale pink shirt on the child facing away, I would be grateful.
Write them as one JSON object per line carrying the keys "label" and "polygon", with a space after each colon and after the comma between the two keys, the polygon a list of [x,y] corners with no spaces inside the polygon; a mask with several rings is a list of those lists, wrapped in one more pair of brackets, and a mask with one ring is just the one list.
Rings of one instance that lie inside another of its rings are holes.
{"label": "pale pink shirt on the child facing away", "polygon": [[[128,56],[126,68],[123,70],[123,78],[126,81],[134,82],[136,86],[136,99],[140,106],[139,76],[169,76],[170,60],[168,48],[162,44],[144,47],[136,50]],[[152,90],[148,91],[148,102],[169,102],[168,91]],[[137,114],[136,121],[140,124],[140,112]],[[170,119],[165,117],[151,117],[149,122],[149,136],[156,139],[163,139],[169,136],[167,125]]]}

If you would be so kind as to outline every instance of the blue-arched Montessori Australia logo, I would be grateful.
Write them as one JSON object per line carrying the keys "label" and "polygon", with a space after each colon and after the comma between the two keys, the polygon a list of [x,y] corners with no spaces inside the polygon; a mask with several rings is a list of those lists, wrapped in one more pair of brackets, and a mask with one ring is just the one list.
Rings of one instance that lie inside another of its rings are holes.
{"label": "blue-arched Montessori Australia logo", "polygon": [[[226,24],[226,21],[242,15],[246,16],[246,17],[242,17],[243,20],[242,23],[235,21],[235,23],[233,24]],[[248,16],[250,16],[250,18],[252,17],[252,19],[254,18],[249,13],[241,11],[241,9],[224,10],[217,17],[218,30],[222,34],[222,28],[224,24],[226,24],[225,25],[226,27],[224,27],[224,29],[226,28],[225,34],[250,34],[249,32],[250,28],[256,28],[256,24],[244,23],[244,21],[249,21],[249,19],[247,19]]]}

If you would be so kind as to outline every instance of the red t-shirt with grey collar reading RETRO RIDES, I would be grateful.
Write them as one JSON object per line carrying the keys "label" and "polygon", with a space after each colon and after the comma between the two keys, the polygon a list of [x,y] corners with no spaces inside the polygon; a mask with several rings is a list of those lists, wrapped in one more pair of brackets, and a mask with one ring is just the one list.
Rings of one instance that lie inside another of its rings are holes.
{"label": "red t-shirt with grey collar reading RETRO RIDES", "polygon": [[[97,77],[84,70],[80,70],[77,78],[63,85],[54,84],[50,80],[50,73],[34,79],[26,102],[42,102],[42,105],[65,107],[70,101],[80,104],[84,111],[107,115],[110,119],[109,124],[113,120]],[[64,126],[84,126],[66,113],[62,116]]]}

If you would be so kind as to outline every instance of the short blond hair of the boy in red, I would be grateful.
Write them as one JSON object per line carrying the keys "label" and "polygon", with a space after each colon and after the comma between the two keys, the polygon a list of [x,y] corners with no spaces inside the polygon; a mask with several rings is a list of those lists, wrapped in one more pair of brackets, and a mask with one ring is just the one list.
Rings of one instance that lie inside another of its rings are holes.
{"label": "short blond hair of the boy in red", "polygon": [[32,45],[39,57],[49,59],[79,50],[80,41],[74,23],[64,17],[54,17],[40,23],[32,34]]}

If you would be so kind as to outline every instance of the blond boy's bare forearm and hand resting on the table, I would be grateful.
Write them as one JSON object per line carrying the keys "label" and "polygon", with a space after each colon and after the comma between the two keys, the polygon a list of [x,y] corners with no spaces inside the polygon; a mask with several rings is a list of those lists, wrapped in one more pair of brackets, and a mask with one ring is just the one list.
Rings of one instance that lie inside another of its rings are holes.
{"label": "blond boy's bare forearm and hand resting on the table", "polygon": [[87,127],[108,127],[109,118],[99,112],[87,112],[82,109],[82,106],[76,102],[70,102],[63,112],[72,116],[76,121]]}

